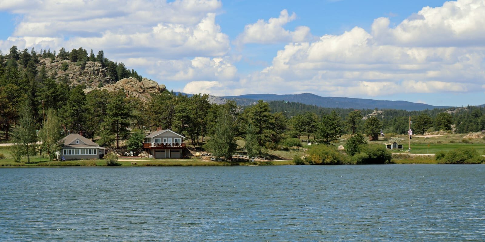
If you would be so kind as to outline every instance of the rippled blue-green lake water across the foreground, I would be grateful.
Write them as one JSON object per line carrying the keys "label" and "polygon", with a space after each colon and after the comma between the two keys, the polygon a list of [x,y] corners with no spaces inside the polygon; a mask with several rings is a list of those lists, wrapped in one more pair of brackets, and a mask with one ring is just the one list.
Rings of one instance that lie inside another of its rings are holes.
{"label": "rippled blue-green lake water across the foreground", "polygon": [[485,166],[0,169],[0,241],[485,241]]}

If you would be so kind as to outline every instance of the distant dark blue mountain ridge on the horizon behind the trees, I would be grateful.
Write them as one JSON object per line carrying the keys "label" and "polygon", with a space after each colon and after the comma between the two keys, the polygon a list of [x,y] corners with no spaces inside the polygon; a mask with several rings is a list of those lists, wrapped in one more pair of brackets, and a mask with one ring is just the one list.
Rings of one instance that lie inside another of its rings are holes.
{"label": "distant dark blue mountain ridge on the horizon behind the trees", "polygon": [[298,102],[307,105],[315,105],[321,107],[339,107],[339,108],[355,108],[355,109],[403,109],[403,110],[425,110],[433,108],[443,108],[447,106],[432,106],[427,104],[412,103],[407,101],[384,101],[363,98],[348,98],[348,97],[321,97],[311,93],[301,94],[246,94],[240,96],[225,96],[228,100],[234,100],[238,105],[251,105],[257,100],[264,101],[289,101]]}

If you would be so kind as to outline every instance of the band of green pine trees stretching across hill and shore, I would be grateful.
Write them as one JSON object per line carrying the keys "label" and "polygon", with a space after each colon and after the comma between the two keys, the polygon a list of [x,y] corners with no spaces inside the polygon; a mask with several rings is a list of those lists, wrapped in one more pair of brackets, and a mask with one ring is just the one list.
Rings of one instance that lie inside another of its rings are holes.
{"label": "band of green pine trees stretching across hill and shore", "polygon": [[[113,81],[129,76],[141,79],[122,63],[106,59],[102,51],[94,56],[93,51],[88,55],[82,48],[70,52],[62,48],[56,55],[50,50],[18,51],[13,46],[8,55],[0,54],[0,130],[9,140],[9,131],[13,130],[12,140],[22,150],[19,154],[27,157],[39,151],[31,147],[34,141],[41,139],[40,151],[51,156],[62,137],[81,130],[101,146],[119,148],[120,140],[128,139],[130,149],[136,150],[146,131],[162,127],[186,136],[194,146],[204,145],[217,156],[228,158],[237,147],[236,139],[244,139],[248,155],[257,156],[282,145],[297,146],[302,139],[329,144],[345,133],[366,134],[371,140],[376,140],[381,130],[405,134],[409,116],[416,134],[450,130],[453,124],[462,133],[485,129],[483,107],[473,106],[456,113],[386,109],[384,117],[363,120],[363,114],[373,110],[261,100],[241,110],[232,101],[211,104],[207,94],[188,97],[164,91],[142,102],[123,90],[85,93],[85,86],[70,86],[66,77],[47,76],[45,66],[37,67],[40,58],[75,61],[81,66],[96,61],[112,72]],[[210,138],[204,140],[206,137]]]}

